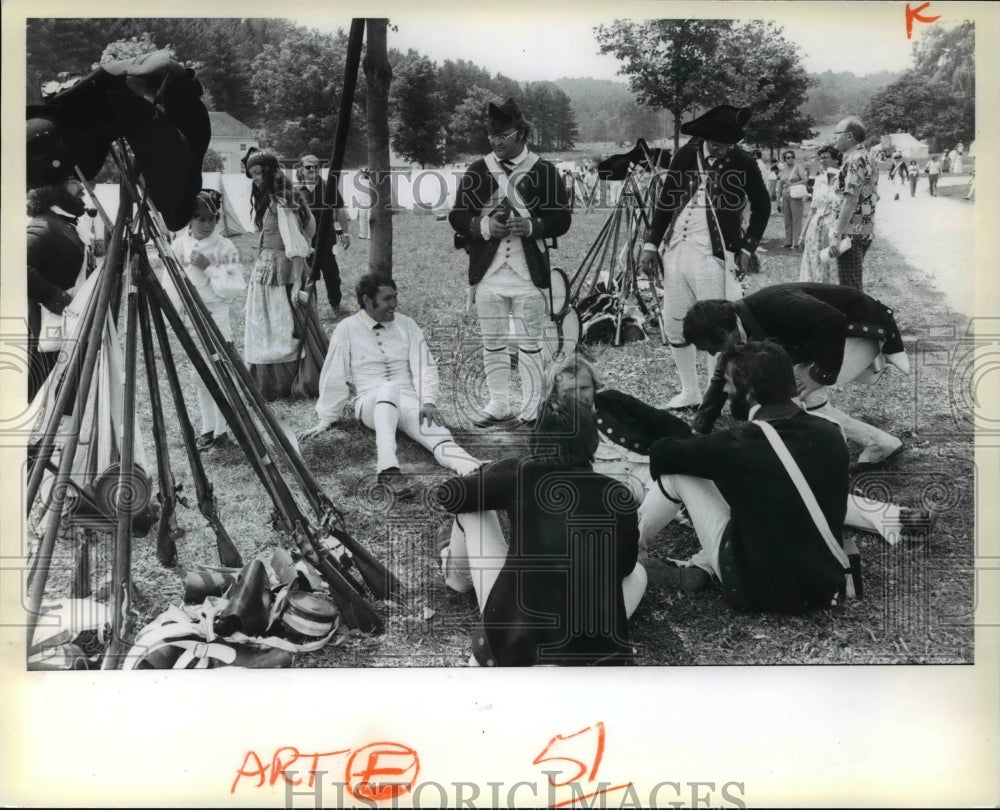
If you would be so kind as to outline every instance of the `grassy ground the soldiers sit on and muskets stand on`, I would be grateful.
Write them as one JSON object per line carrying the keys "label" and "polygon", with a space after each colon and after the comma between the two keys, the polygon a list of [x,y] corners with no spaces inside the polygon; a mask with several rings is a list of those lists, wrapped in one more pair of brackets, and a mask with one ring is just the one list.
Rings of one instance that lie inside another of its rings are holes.
{"label": "grassy ground the soldiers sit on and muskets stand on", "polygon": [[[569,234],[560,239],[556,263],[572,274],[604,218],[603,214],[578,215]],[[430,216],[404,214],[396,216],[393,225],[394,275],[400,285],[401,310],[424,327],[439,359],[444,392],[440,405],[457,438],[480,458],[523,453],[523,437],[471,431],[463,415],[469,402],[478,403],[482,397],[480,344],[463,315],[466,257],[452,249],[448,224]],[[781,228],[780,218],[773,218],[764,241],[766,271],[751,278],[751,289],[797,278],[800,257],[780,247]],[[249,270],[254,240],[241,237],[235,241]],[[352,311],[356,308],[353,285],[367,268],[368,246],[355,240],[342,261],[344,303]],[[632,620],[634,639],[643,647],[642,663],[972,662],[972,435],[961,403],[956,405],[960,397],[951,379],[961,351],[953,338],[964,333],[965,319],[944,310],[926,274],[906,265],[884,241],[876,240],[866,265],[868,291],[900,313],[914,373],[907,377],[891,369],[874,388],[845,388],[838,393],[838,402],[848,412],[902,437],[910,449],[898,466],[861,476],[854,483],[872,497],[911,506],[938,504],[943,516],[931,542],[920,548],[893,548],[875,535],[858,533],[865,597],[804,617],[739,614],[716,590],[686,596],[650,589]],[[335,318],[322,288],[320,300],[324,323],[331,329]],[[235,340],[241,347],[242,308],[234,306],[233,314]],[[178,345],[175,351],[181,354]],[[611,387],[653,404],[662,404],[677,390],[673,364],[658,339],[620,348],[597,347],[594,353]],[[190,390],[187,361],[181,361],[181,366],[182,382]],[[141,396],[145,396],[144,386]],[[188,401],[194,409],[193,394]],[[280,402],[274,410],[298,430],[313,423],[313,404]],[[148,437],[145,407],[140,407],[140,414]],[[218,563],[214,537],[193,503],[190,474],[169,409],[168,423],[175,474],[185,482],[192,504],[178,510],[178,520],[187,531],[178,541],[176,569],[157,563],[151,539],[136,540],[133,570],[139,588],[139,627],[168,605],[180,603],[185,570],[199,563]],[[148,451],[152,452],[151,443]],[[475,601],[443,585],[433,552],[434,534],[449,519],[425,499],[388,509],[371,496],[374,438],[360,426],[324,434],[303,448],[303,456],[347,514],[352,533],[390,564],[409,595],[404,604],[379,606],[387,619],[384,635],[348,637],[337,646],[299,656],[296,666],[464,664],[476,620]],[[425,488],[448,474],[405,437],[400,438],[400,458]],[[289,545],[287,538],[269,528],[271,504],[238,449],[208,454],[205,463],[222,519],[244,559]],[[653,553],[685,557],[696,543],[691,530],[671,526]],[[53,582],[59,588],[65,577]]]}

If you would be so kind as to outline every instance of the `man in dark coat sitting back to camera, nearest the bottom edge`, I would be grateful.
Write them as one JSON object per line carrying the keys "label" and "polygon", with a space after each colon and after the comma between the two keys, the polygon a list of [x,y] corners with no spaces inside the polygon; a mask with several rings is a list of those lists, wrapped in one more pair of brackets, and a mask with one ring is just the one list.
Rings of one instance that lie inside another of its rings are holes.
{"label": "man in dark coat sitting back to camera, nearest the bottom edge", "polygon": [[[457,515],[446,582],[476,592],[482,622],[470,663],[482,666],[627,664],[628,616],[646,588],[636,502],[592,469],[593,408],[548,400],[531,456],[452,478],[435,495]],[[493,510],[510,515],[510,546]],[[484,511],[486,510],[486,511]]]}

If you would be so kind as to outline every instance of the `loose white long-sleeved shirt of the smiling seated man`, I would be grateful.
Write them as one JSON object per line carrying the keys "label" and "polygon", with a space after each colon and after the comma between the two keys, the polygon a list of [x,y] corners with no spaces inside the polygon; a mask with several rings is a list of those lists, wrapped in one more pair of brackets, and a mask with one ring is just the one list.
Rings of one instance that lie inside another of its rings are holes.
{"label": "loose white long-sleeved shirt of the smiling seated man", "polygon": [[345,318],[330,336],[330,349],[319,378],[316,413],[320,419],[336,420],[350,399],[354,386],[354,415],[361,398],[382,383],[394,382],[401,391],[416,395],[421,404],[437,398],[437,363],[431,356],[424,333],[412,318],[396,313],[381,324],[367,312]]}

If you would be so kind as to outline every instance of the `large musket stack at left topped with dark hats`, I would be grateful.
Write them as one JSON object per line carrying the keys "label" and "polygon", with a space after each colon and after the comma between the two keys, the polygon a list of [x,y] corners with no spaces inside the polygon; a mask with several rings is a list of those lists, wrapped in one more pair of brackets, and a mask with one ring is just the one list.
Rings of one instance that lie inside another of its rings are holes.
{"label": "large musket stack at left topped with dark hats", "polygon": [[[352,42],[357,46],[358,53],[362,30],[360,26],[352,26]],[[185,75],[185,72],[190,75]],[[126,82],[126,79],[130,81]],[[171,121],[169,112],[171,99],[176,100],[181,90],[186,92],[186,96],[177,104],[184,108],[187,120],[178,124]],[[46,395],[47,406],[42,420],[41,438],[32,448],[26,503],[28,513],[31,513],[36,503],[43,476],[47,472],[54,470],[54,483],[46,503],[45,531],[33,561],[28,649],[32,647],[32,638],[41,616],[67,493],[75,493],[77,499],[87,496],[72,478],[75,457],[84,420],[94,418],[93,414],[88,414],[94,370],[102,347],[107,345],[106,325],[117,311],[115,302],[122,292],[125,292],[122,330],[125,348],[122,362],[122,438],[118,448],[118,486],[117,491],[110,496],[114,514],[109,515],[107,509],[103,512],[105,517],[115,522],[111,577],[112,634],[102,662],[104,668],[115,668],[120,664],[123,645],[131,629],[130,563],[135,517],[133,496],[135,482],[144,477],[144,472],[137,467],[135,459],[136,367],[140,344],[153,417],[159,488],[157,556],[162,564],[173,565],[177,559],[175,540],[180,533],[174,515],[179,487],[170,467],[166,446],[156,363],[158,352],[177,410],[199,509],[215,533],[222,564],[242,564],[238,551],[219,520],[212,485],[195,446],[194,431],[188,419],[171,353],[168,324],[218,404],[236,441],[271,498],[275,528],[289,533],[302,557],[322,574],[341,620],[348,628],[362,632],[381,632],[383,621],[367,601],[367,596],[370,594],[380,600],[399,597],[403,590],[401,583],[347,531],[343,513],[323,492],[293,441],[285,434],[253,383],[235,349],[223,338],[200,296],[188,281],[183,267],[173,255],[163,230],[161,223],[166,223],[169,227],[186,224],[194,206],[194,197],[200,188],[201,160],[208,138],[207,130],[204,138],[199,137],[199,130],[202,114],[207,126],[207,113],[204,113],[204,106],[197,98],[201,94],[201,88],[193,79],[193,72],[181,68],[165,52],[160,52],[99,68],[65,93],[72,97],[67,98],[60,93],[43,105],[29,108],[29,118],[40,116],[47,119],[52,130],[58,131],[60,137],[66,138],[71,144],[68,148],[70,154],[73,152],[74,134],[83,132],[80,137],[86,142],[89,154],[85,156],[86,161],[74,161],[78,166],[81,163],[86,165],[87,169],[80,172],[82,175],[93,177],[103,162],[102,149],[104,155],[110,151],[121,175],[121,205],[111,227],[104,265],[98,271],[99,276],[92,285],[92,293],[83,308],[76,340],[68,353],[67,361],[53,372],[48,382],[50,390]],[[90,97],[86,95],[88,93]],[[191,103],[192,97],[197,100],[197,105]],[[123,98],[127,98],[127,104],[123,102]],[[152,102],[149,99],[153,99]],[[102,109],[102,104],[103,109],[109,110],[111,121],[100,120],[98,116],[100,123],[99,126],[94,126],[94,130],[100,131],[85,131],[81,127],[78,111],[89,110],[92,114],[95,108]],[[146,110],[143,105],[150,109]],[[199,107],[200,114],[197,109]],[[115,116],[121,115],[123,109],[127,109],[131,116],[129,122],[127,125],[116,126]],[[149,114],[147,129],[134,120],[136,115],[142,118],[145,113]],[[346,122],[342,126],[346,127]],[[164,152],[169,153],[171,146],[175,147],[174,154],[165,155]],[[155,147],[155,158],[150,157],[151,147]],[[100,159],[95,160],[95,155]],[[170,165],[170,157],[177,162]],[[171,176],[180,177],[183,187],[178,189],[176,183],[171,185]],[[158,209],[158,204],[165,205],[166,208]],[[167,297],[150,266],[146,253],[147,240],[152,241],[165,267],[164,272],[169,274],[180,295],[197,341],[185,328],[180,313]],[[320,248],[318,245],[317,249]],[[67,413],[72,413],[72,417],[56,466],[52,463],[55,436],[63,414]],[[314,513],[315,521],[311,521],[300,507],[286,481],[286,473],[290,473],[298,485],[301,495]]]}

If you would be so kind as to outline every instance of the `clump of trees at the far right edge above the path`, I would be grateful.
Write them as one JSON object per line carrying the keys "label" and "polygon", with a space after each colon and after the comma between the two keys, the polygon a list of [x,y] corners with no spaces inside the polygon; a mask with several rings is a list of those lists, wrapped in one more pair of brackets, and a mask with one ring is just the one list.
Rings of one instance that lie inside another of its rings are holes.
{"label": "clump of trees at the far right edge above the path", "polygon": [[976,32],[972,22],[935,26],[913,45],[913,68],[872,95],[862,118],[873,139],[909,132],[943,152],[976,129]]}

